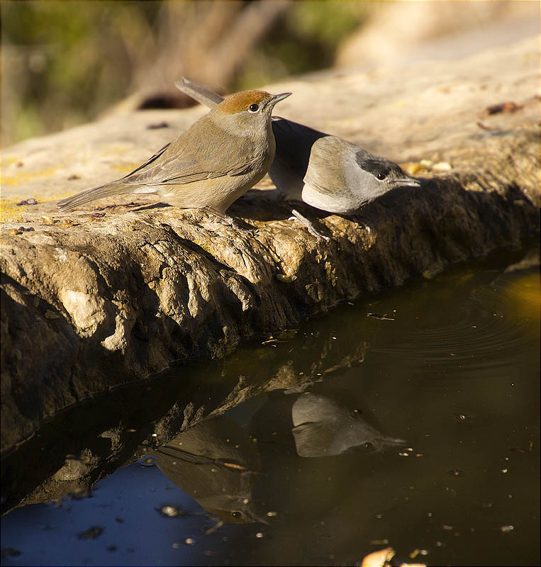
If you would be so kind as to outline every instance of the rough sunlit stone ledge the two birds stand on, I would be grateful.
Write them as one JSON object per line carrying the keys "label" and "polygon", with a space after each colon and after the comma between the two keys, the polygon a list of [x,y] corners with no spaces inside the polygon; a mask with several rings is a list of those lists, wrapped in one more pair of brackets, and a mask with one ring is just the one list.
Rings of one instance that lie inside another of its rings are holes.
{"label": "rough sunlit stone ledge the two birds stand on", "polygon": [[[538,234],[537,38],[268,89],[294,92],[280,108],[286,118],[440,170],[362,217],[316,220],[303,208],[325,243],[287,220],[268,181],[229,211],[255,236],[163,203],[57,213],[58,198],[130,171],[201,108],[113,116],[5,150],[2,451],[60,410],[174,361],[220,357],[244,337]],[[514,112],[483,113],[510,101]],[[27,198],[38,205],[16,206]]]}

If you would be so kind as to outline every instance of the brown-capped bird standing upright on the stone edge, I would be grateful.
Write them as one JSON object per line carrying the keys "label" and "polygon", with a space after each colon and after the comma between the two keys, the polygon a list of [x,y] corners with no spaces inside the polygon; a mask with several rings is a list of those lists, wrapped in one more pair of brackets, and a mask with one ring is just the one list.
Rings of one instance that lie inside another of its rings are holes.
{"label": "brown-capped bird standing upright on the stone edge", "polygon": [[57,203],[72,210],[104,197],[155,193],[182,208],[218,216],[260,181],[274,160],[274,105],[291,93],[243,91],[218,106],[122,179]]}

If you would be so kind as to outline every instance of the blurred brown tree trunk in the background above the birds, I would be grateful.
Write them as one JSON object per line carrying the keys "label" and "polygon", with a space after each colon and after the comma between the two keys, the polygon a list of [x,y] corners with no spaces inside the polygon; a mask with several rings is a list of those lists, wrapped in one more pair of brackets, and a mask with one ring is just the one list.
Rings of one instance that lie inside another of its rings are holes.
{"label": "blurred brown tree trunk in the background above the birds", "polygon": [[115,110],[188,106],[192,101],[174,87],[182,75],[225,92],[252,47],[289,4],[289,0],[164,2],[155,33],[149,29],[145,45],[125,38],[134,66],[133,94]]}

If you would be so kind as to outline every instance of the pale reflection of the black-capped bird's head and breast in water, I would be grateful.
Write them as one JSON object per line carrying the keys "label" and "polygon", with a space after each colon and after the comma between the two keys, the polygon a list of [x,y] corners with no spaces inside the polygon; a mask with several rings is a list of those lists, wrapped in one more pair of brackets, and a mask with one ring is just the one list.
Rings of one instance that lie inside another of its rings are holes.
{"label": "pale reflection of the black-capped bird's head and breast in water", "polygon": [[327,395],[300,395],[291,408],[291,417],[296,451],[303,457],[340,455],[352,449],[385,451],[407,443],[386,437],[359,412]]}

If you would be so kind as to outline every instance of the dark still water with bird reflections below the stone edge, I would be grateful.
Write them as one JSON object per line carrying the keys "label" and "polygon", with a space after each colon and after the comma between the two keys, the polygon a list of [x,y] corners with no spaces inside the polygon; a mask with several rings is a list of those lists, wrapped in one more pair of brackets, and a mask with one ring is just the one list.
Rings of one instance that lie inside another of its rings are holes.
{"label": "dark still water with bird reflections below the stone edge", "polygon": [[191,369],[206,387],[297,378],[91,498],[9,512],[2,564],[354,565],[389,545],[398,563],[539,565],[539,266],[509,262],[361,298]]}

